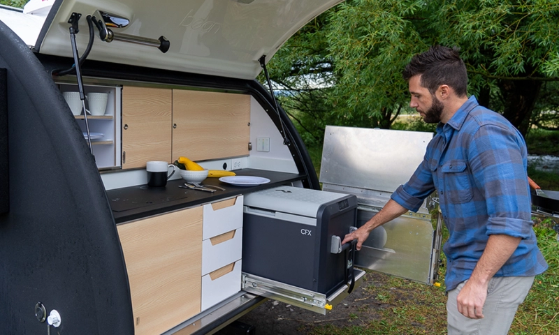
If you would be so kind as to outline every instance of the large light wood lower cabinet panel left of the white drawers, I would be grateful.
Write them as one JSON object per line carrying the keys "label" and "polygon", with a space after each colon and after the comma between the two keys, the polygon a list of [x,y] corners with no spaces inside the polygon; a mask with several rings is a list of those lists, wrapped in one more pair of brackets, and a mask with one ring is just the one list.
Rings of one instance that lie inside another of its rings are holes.
{"label": "large light wood lower cabinet panel left of the white drawers", "polygon": [[202,207],[117,227],[136,334],[161,334],[201,311]]}

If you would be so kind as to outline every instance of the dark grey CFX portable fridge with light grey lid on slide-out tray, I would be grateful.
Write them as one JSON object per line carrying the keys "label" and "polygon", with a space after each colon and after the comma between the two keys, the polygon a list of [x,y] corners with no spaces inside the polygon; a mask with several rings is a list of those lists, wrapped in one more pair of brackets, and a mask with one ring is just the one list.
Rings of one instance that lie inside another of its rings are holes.
{"label": "dark grey CFX portable fridge with light grey lid on slide-out tray", "polygon": [[242,271],[329,295],[347,283],[331,237],[356,224],[357,198],[279,186],[245,196]]}

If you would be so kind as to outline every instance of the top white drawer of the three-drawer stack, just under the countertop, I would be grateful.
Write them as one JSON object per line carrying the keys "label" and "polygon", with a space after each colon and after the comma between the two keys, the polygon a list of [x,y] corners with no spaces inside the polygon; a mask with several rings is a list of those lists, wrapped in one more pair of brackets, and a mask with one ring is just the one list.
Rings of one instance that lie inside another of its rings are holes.
{"label": "top white drawer of the three-drawer stack, just under the countertop", "polygon": [[204,205],[202,239],[242,227],[242,195],[237,198]]}

